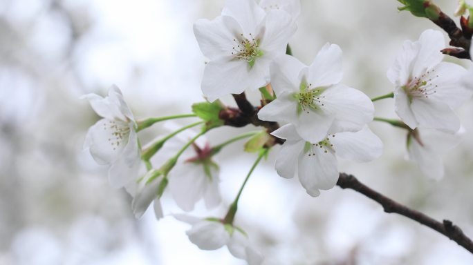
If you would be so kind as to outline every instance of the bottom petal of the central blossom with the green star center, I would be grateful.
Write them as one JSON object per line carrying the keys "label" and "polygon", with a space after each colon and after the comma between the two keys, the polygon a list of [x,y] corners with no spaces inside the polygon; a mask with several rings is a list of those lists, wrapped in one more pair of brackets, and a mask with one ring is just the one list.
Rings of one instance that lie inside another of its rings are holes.
{"label": "bottom petal of the central blossom with the green star center", "polygon": [[297,124],[294,123],[297,133],[306,141],[317,143],[324,139],[331,128],[335,116],[322,111],[304,110],[299,115]]}

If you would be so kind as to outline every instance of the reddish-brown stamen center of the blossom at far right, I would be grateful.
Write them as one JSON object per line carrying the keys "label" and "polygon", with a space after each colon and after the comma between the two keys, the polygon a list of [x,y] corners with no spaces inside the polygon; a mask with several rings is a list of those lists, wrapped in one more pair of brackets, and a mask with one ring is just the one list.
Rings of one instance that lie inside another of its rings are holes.
{"label": "reddish-brown stamen center of the blossom at far right", "polygon": [[428,70],[427,72],[423,73],[420,77],[414,77],[414,79],[410,79],[406,86],[402,88],[406,92],[409,100],[417,98],[426,98],[428,99],[430,95],[436,93],[437,85],[432,84],[432,79],[438,77],[438,75],[434,74],[435,69]]}

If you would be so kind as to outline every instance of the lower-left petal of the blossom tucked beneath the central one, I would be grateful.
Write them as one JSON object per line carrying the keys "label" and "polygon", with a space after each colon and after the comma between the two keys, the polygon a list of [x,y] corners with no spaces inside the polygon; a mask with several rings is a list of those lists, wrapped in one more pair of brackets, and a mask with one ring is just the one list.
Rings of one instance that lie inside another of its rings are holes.
{"label": "lower-left petal of the blossom tucked beneath the central one", "polygon": [[297,173],[297,158],[304,151],[305,141],[286,141],[276,158],[276,171],[281,177],[290,179]]}

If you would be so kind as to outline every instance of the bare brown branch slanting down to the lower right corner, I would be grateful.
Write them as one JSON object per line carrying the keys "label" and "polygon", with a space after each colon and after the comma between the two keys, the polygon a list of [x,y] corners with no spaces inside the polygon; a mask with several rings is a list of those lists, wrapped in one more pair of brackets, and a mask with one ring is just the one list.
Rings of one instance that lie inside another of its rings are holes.
{"label": "bare brown branch slanting down to the lower right corner", "polygon": [[345,173],[340,173],[340,177],[337,181],[337,186],[340,188],[351,188],[352,190],[358,191],[362,195],[373,199],[375,202],[381,204],[382,208],[384,208],[384,212],[386,213],[398,213],[399,215],[403,215],[409,219],[412,219],[420,224],[425,226],[429,226],[430,228],[436,230],[438,233],[441,233],[448,237],[449,239],[456,242],[458,245],[463,246],[467,251],[473,253],[473,242],[472,239],[467,237],[463,231],[456,225],[454,225],[449,220],[443,220],[443,222],[438,222],[436,219],[429,217],[423,213],[418,212],[417,210],[413,210],[399,204],[398,202],[385,197],[384,195],[376,192],[375,190],[365,186],[362,184],[358,179],[353,177],[353,175],[347,175]]}

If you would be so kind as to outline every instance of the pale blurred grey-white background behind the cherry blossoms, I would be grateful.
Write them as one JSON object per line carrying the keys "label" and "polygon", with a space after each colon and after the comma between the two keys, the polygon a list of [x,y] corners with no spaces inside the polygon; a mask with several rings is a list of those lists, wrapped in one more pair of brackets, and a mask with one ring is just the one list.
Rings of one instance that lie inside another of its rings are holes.
{"label": "pale blurred grey-white background behind the cherry blossoms", "polygon": [[[398,12],[395,0],[302,0],[293,54],[310,63],[324,43],[344,51],[343,83],[369,97],[391,92],[386,71],[405,39],[416,40],[426,19]],[[456,1],[435,1],[449,15]],[[188,113],[202,101],[205,66],[192,24],[213,19],[223,0],[0,1],[0,264],[244,264],[228,253],[201,251],[173,217],[152,210],[134,219],[131,198],[107,183],[106,166],[82,150],[99,119],[80,95],[119,86],[137,118]],[[470,67],[469,61],[446,58]],[[257,103],[257,93],[250,98]],[[223,101],[233,104],[231,97]],[[376,115],[396,118],[392,99]],[[432,181],[405,159],[405,132],[370,124],[384,142],[380,159],[340,161],[368,186],[436,219],[452,219],[473,237],[473,102],[458,110],[467,133],[443,154],[445,177]],[[178,121],[186,124],[189,121]],[[250,126],[248,126],[250,127]],[[212,143],[254,128],[219,128]],[[166,132],[156,125],[147,142]],[[221,217],[254,154],[225,149],[223,204],[193,215]],[[273,169],[277,149],[243,192],[236,224],[266,264],[473,264],[473,256],[430,228],[389,215],[370,199],[338,187],[317,198],[297,179]],[[158,164],[159,161],[156,161]],[[169,194],[165,214],[180,213]]]}

